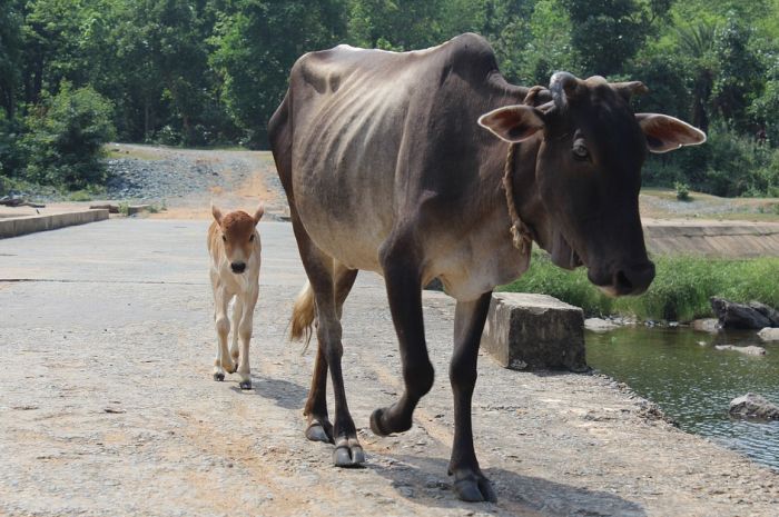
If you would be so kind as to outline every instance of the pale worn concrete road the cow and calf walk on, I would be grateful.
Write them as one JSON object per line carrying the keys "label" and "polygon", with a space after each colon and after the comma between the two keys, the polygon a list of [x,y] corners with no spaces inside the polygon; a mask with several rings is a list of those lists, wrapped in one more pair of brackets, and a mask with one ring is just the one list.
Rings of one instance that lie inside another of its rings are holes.
{"label": "pale worn concrete road the cow and calf walk on", "polygon": [[376,437],[368,416],[402,386],[371,274],[344,316],[346,388],[368,461],[331,467],[332,446],[304,438],[312,350],[285,339],[304,281],[290,227],[260,223],[250,391],[237,376],[211,380],[206,227],[114,219],[0,241],[0,515],[777,515],[777,474],[678,431],[623,387],[486,357],[474,427],[500,500],[456,500],[453,305],[425,295],[435,386],[411,431]]}

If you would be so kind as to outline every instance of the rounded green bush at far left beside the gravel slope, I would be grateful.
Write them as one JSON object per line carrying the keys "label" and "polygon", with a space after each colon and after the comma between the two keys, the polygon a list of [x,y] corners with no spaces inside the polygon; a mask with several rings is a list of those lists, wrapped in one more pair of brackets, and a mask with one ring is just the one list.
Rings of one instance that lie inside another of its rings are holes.
{"label": "rounded green bush at far left beside the gravel slope", "polygon": [[100,158],[103,143],[114,138],[112,109],[90,87],[72,90],[63,83],[27,117],[26,178],[70,190],[105,182]]}

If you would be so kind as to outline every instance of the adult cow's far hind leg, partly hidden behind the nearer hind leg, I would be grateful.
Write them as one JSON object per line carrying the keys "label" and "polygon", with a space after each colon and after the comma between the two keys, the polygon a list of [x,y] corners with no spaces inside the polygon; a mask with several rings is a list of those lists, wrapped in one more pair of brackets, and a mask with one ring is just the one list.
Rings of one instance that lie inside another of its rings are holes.
{"label": "adult cow's far hind leg, partly hidden behind the nearer hind leg", "polygon": [[[346,297],[352,290],[352,286],[354,286],[354,280],[357,278],[357,270],[335,265],[333,274],[336,312],[338,321],[341,321],[344,301],[346,301]],[[312,441],[334,443],[333,425],[327,416],[327,359],[325,358],[324,350],[325,348],[319,344],[319,346],[317,346],[316,360],[314,364],[312,387],[310,391],[308,391],[308,400],[306,400],[306,407],[303,414],[308,418],[306,438]]]}

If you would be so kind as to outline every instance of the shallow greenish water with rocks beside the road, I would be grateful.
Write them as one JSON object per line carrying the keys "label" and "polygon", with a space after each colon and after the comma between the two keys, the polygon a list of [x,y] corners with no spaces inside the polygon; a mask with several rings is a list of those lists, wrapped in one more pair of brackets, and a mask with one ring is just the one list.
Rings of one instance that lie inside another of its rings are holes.
{"label": "shallow greenish water with rocks beside the road", "polygon": [[[586,331],[585,340],[590,366],[657,402],[681,429],[779,470],[779,421],[728,416],[730,400],[748,391],[779,404],[779,342],[762,342],[755,332],[647,327]],[[758,345],[767,354],[746,356],[716,350],[714,345]]]}

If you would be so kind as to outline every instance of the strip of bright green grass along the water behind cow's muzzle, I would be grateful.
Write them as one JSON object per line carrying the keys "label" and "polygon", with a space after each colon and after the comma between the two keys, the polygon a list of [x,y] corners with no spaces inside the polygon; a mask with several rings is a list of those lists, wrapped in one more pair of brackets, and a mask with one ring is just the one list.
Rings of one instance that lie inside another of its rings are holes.
{"label": "strip of bright green grass along the water behind cow's muzzle", "polygon": [[586,279],[586,270],[566,271],[533,250],[530,270],[500,290],[551,295],[584,309],[588,316],[622,315],[688,321],[712,316],[709,297],[757,300],[779,307],[779,258],[748,260],[653,257],[657,277],[639,297],[609,298]]}

